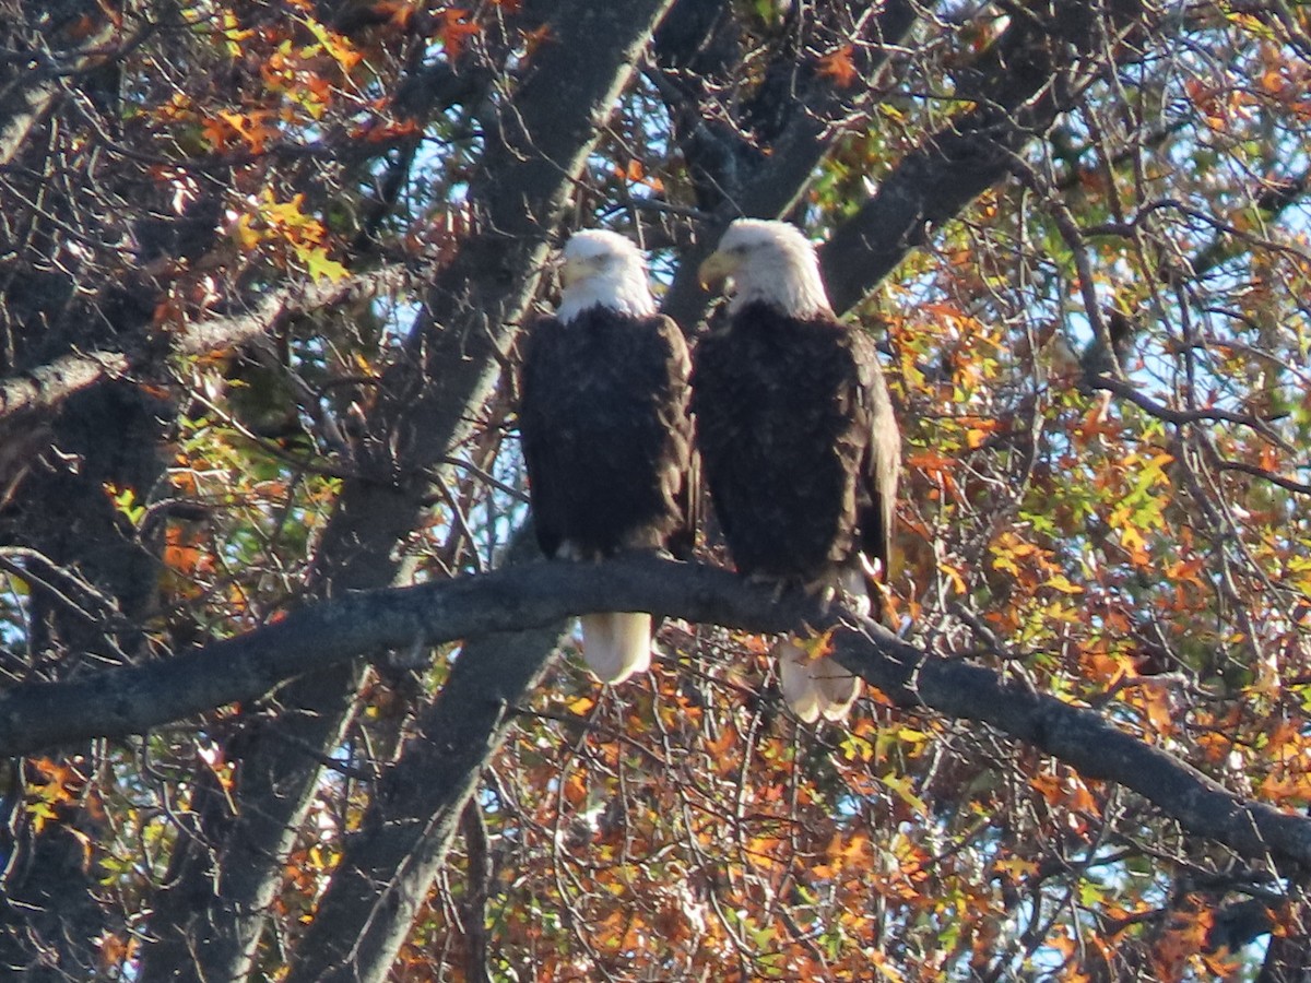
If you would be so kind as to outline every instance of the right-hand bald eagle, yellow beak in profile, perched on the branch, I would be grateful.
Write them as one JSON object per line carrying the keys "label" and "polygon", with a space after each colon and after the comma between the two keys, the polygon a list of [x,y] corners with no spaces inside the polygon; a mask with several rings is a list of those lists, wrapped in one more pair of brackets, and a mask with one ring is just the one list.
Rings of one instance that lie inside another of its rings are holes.
{"label": "right-hand bald eagle, yellow beak in profile, perched on the branch", "polygon": [[[696,350],[692,414],[711,501],[738,570],[869,613],[886,578],[901,435],[872,341],[838,322],[814,248],[781,222],[739,219],[701,265],[732,280]],[[880,606],[881,607],[881,606]],[[794,641],[777,646],[802,720],[843,718],[859,680]]]}

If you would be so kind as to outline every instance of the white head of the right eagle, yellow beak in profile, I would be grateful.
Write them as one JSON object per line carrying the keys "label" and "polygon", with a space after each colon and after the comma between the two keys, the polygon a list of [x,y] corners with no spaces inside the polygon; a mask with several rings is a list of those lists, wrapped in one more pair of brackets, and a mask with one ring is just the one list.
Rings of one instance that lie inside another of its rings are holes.
{"label": "white head of the right eagle, yellow beak in profile", "polygon": [[789,317],[831,313],[815,248],[785,222],[735,220],[699,273],[707,290],[733,280],[729,313],[756,300]]}

